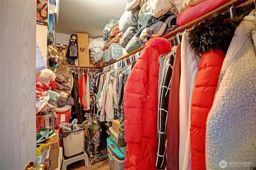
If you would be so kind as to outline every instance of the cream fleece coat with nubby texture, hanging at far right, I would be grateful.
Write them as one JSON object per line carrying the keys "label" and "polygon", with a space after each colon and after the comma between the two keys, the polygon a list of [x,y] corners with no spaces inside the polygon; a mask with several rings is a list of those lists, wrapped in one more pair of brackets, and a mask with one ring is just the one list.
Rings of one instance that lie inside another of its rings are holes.
{"label": "cream fleece coat with nubby texture, hanging at far right", "polygon": [[236,32],[223,61],[218,89],[206,123],[206,169],[252,167],[229,166],[230,162],[250,162],[256,166],[256,53],[252,11]]}

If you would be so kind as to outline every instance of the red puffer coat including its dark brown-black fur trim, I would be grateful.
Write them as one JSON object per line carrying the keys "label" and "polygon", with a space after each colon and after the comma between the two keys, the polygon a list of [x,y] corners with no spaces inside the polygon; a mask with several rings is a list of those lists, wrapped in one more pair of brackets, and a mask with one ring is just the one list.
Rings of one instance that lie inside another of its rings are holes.
{"label": "red puffer coat including its dark brown-black fur trim", "polygon": [[[235,14],[240,16],[236,15],[232,20],[225,20],[230,16],[214,15],[195,26],[189,34],[189,43],[194,52],[202,54],[191,103],[190,143],[193,170],[206,169],[206,120],[212,108],[222,62],[236,27],[244,18],[244,12],[237,10],[237,7],[234,8]],[[244,9],[240,8],[240,10]]]}

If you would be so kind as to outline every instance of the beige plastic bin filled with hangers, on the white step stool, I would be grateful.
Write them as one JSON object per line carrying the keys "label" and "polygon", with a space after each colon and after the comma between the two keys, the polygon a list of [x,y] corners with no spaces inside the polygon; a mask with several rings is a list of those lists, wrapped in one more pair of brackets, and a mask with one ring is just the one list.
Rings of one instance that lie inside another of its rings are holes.
{"label": "beige plastic bin filled with hangers, on the white step stool", "polygon": [[85,125],[77,125],[78,130],[65,131],[63,134],[63,150],[65,156],[73,156],[84,151],[84,130]]}

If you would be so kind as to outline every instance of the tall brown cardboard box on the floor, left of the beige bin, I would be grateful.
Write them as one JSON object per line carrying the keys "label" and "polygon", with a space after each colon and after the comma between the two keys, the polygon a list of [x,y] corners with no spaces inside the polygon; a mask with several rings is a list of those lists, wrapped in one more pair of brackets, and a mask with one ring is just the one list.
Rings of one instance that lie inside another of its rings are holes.
{"label": "tall brown cardboard box on the floor, left of the beige bin", "polygon": [[54,131],[56,135],[51,137],[50,155],[49,155],[49,170],[58,168],[59,158],[59,130]]}

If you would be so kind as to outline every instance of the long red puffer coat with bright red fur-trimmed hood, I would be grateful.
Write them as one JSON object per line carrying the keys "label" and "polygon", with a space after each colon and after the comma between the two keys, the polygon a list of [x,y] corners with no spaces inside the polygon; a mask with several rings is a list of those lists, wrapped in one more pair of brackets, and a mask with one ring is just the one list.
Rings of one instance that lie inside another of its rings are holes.
{"label": "long red puffer coat with bright red fur-trimmed hood", "polygon": [[156,170],[158,57],[171,50],[164,38],[151,38],[126,81],[124,134],[126,170]]}

